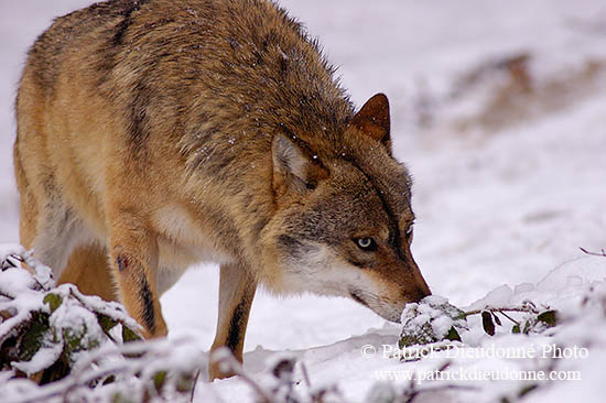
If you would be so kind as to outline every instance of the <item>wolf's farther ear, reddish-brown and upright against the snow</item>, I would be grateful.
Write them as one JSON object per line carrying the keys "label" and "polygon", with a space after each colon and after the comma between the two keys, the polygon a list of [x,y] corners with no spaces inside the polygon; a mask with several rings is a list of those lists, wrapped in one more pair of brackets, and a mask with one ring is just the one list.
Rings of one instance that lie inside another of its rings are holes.
{"label": "wolf's farther ear, reddish-brown and upright against the snow", "polygon": [[389,100],[385,94],[377,94],[366,101],[356,113],[351,124],[362,133],[390,148],[389,137]]}

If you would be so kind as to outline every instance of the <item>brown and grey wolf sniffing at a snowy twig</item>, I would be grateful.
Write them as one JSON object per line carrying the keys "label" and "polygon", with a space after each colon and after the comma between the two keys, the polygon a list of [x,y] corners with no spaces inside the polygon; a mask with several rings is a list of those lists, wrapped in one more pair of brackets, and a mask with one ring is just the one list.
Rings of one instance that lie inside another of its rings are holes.
{"label": "brown and grey wolf sniffing at a snowy twig", "polygon": [[258,285],[392,322],[431,293],[388,98],[356,111],[269,0],[109,0],[58,18],[15,110],[21,242],[59,282],[123,303],[144,337],[166,335],[159,297],[197,262],[220,265],[212,350],[240,361]]}

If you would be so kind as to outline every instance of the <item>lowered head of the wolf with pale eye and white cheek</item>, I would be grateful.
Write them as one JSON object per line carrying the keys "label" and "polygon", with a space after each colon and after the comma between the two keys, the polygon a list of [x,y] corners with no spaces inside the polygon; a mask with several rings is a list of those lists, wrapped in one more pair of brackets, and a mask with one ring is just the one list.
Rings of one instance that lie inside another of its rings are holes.
{"label": "lowered head of the wolf with pale eye and white cheek", "polygon": [[431,292],[410,251],[411,181],[391,156],[387,97],[370,98],[338,139],[273,138],[277,214],[261,240],[271,283],[347,296],[399,322],[405,303]]}

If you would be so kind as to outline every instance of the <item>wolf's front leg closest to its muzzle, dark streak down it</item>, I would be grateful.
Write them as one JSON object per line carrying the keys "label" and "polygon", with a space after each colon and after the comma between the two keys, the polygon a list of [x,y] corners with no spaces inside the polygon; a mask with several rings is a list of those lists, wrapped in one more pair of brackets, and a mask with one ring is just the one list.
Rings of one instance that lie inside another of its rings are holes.
{"label": "wolf's front leg closest to its muzzle, dark streak down it", "polygon": [[[221,264],[219,281],[219,317],[217,322],[217,334],[210,356],[219,347],[227,347],[236,359],[242,362],[242,348],[245,345],[246,327],[248,315],[257,281],[241,263]],[[223,379],[234,375],[230,372],[223,372],[216,362],[210,361],[208,367],[208,379]]]}

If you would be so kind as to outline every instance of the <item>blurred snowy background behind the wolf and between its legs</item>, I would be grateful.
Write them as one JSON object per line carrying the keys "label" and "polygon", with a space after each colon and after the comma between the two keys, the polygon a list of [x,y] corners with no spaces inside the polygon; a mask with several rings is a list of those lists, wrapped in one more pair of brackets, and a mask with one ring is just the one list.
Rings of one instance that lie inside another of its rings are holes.
{"label": "blurred snowy background behind the wolf and between its legs", "polygon": [[[25,52],[53,18],[89,3],[0,0],[0,242],[19,240],[13,102]],[[501,284],[539,282],[578,247],[606,248],[604,1],[279,4],[320,37],[358,107],[388,95],[394,153],[414,176],[413,253],[434,293],[470,304]],[[188,272],[163,297],[171,334],[210,345],[216,269]],[[349,301],[261,293],[246,349],[382,326]]]}

